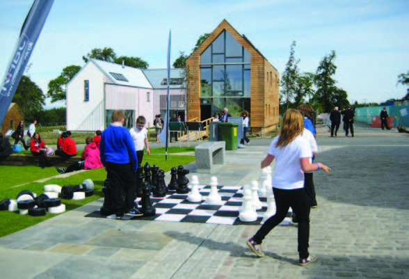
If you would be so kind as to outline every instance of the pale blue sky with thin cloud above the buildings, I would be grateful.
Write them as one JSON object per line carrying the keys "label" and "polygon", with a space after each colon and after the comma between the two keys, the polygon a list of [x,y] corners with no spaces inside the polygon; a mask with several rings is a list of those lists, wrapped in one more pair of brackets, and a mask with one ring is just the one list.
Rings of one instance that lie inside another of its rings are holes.
{"label": "pale blue sky with thin cloud above the buildings", "polygon": [[[32,4],[0,0],[0,77]],[[223,19],[280,75],[295,40],[300,72],[316,72],[323,57],[335,51],[334,78],[350,102],[406,95],[407,87],[396,83],[409,71],[408,0],[55,0],[26,72],[46,94],[51,79],[68,65],[85,65],[82,56],[95,47],[165,68],[169,31],[172,64],[180,51],[191,54],[200,35]]]}

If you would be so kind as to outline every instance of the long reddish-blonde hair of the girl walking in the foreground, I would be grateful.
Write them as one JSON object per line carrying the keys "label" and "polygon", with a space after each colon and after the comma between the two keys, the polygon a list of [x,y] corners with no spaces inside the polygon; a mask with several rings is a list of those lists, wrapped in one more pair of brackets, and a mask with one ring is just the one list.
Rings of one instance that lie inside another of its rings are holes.
{"label": "long reddish-blonde hair of the girl walking in the foreground", "polygon": [[291,141],[294,141],[299,134],[304,130],[303,115],[296,109],[289,109],[282,117],[282,126],[280,130],[280,138],[275,143],[276,148],[284,148]]}

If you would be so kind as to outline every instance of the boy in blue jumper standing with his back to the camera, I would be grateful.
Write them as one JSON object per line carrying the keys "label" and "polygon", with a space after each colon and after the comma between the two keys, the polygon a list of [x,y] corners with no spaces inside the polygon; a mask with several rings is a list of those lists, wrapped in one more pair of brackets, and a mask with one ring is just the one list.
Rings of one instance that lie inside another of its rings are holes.
{"label": "boy in blue jumper standing with his back to the camera", "polygon": [[[111,116],[111,125],[102,132],[99,151],[101,162],[104,165],[111,181],[111,205],[117,219],[124,216],[142,216],[136,208],[136,177],[138,159],[134,141],[127,128],[122,127],[125,114],[114,111]],[[122,189],[125,191],[125,202],[122,198]]]}

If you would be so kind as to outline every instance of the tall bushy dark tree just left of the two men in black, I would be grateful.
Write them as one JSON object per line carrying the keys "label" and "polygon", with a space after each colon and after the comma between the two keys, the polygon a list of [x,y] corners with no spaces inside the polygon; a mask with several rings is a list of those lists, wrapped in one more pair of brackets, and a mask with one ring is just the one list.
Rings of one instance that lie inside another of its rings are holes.
{"label": "tall bushy dark tree just left of the two men in black", "polygon": [[323,110],[326,112],[330,112],[334,109],[334,95],[338,90],[335,86],[337,81],[332,79],[332,75],[334,75],[337,70],[337,66],[334,63],[335,57],[335,51],[333,50],[329,55],[324,56],[321,63],[319,63],[319,67],[316,69],[314,78],[317,87],[314,99],[322,105]]}

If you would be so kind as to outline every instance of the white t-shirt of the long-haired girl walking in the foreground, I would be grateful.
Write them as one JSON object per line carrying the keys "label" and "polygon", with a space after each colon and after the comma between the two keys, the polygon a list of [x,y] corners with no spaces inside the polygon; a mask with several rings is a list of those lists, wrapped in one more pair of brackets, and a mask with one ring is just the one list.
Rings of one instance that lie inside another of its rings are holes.
{"label": "white t-shirt of the long-haired girl walking in the foreground", "polygon": [[304,187],[304,173],[301,170],[300,159],[312,157],[310,144],[303,136],[294,138],[284,148],[276,148],[277,136],[270,145],[268,154],[275,157],[274,173],[271,183],[274,188],[291,190]]}

